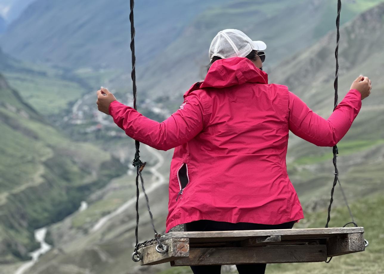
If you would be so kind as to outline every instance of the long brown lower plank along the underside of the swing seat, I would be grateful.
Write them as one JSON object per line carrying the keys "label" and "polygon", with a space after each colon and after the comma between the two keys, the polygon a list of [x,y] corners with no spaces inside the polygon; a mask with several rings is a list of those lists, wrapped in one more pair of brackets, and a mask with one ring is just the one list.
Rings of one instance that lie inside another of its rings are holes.
{"label": "long brown lower plank along the underside of the swing seat", "polygon": [[276,262],[321,262],[326,245],[288,245],[231,248],[191,248],[189,257],[171,261],[171,266],[253,264]]}

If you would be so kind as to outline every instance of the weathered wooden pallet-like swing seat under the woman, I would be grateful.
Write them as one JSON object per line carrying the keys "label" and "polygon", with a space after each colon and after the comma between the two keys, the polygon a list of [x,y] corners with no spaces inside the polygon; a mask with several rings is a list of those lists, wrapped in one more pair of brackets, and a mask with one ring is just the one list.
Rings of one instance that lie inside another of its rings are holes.
{"label": "weathered wooden pallet-like swing seat under the woman", "polygon": [[170,232],[161,242],[168,246],[164,254],[157,244],[139,249],[141,265],[321,262],[365,249],[363,227]]}

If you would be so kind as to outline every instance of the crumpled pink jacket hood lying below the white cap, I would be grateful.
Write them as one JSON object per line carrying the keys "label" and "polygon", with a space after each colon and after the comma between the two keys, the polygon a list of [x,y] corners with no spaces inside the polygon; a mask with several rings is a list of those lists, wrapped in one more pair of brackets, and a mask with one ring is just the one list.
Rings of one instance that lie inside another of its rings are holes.
{"label": "crumpled pink jacket hood lying below the white cap", "polygon": [[268,74],[257,68],[250,59],[245,57],[219,59],[209,68],[203,82],[193,84],[185,92],[184,99],[197,89],[223,88],[244,83],[268,84]]}

